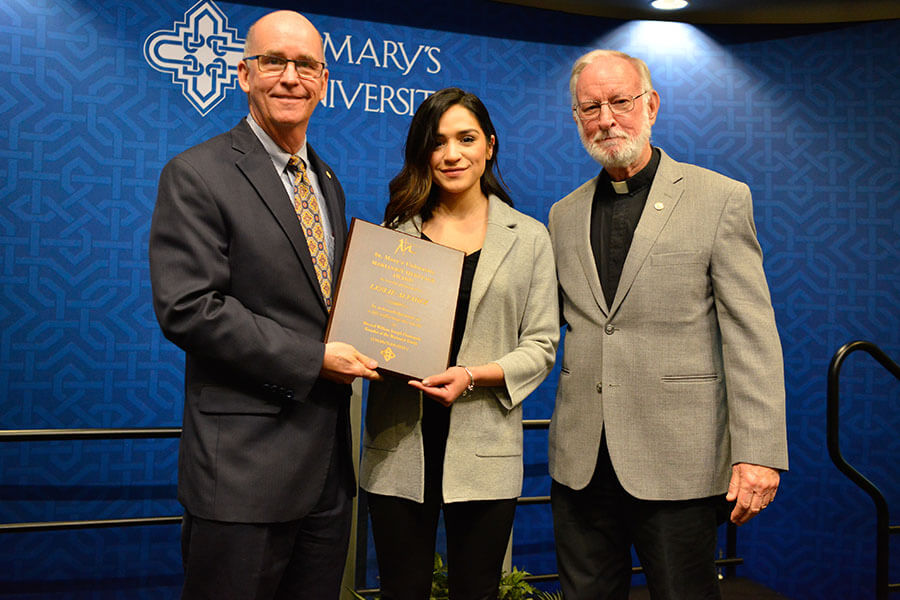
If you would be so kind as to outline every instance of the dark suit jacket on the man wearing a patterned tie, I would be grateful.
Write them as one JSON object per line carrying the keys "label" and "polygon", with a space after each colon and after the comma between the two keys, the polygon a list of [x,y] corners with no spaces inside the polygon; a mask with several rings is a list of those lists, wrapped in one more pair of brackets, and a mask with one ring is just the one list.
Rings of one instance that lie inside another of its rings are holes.
{"label": "dark suit jacket on the man wearing a patterned tie", "polygon": [[[340,265],[344,192],[312,148],[309,158]],[[163,169],[150,278],[163,333],[186,356],[178,498],[188,512],[301,518],[335,447],[352,481],[350,386],[319,378],[325,302],[290,198],[246,121]]]}

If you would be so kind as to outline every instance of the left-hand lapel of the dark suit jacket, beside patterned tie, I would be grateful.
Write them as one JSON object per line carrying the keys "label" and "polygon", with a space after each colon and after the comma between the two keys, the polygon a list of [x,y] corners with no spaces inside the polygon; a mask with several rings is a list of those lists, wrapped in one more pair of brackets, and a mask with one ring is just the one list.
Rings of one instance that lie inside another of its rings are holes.
{"label": "left-hand lapel of the dark suit jacket, beside patterned tie", "polygon": [[[297,260],[300,261],[300,265],[306,273],[310,285],[318,292],[317,296],[321,302],[322,310],[326,310],[325,299],[322,298],[319,280],[316,279],[312,258],[309,255],[309,247],[306,245],[306,237],[300,229],[297,215],[291,206],[290,198],[285,192],[284,184],[272,166],[272,159],[269,158],[262,143],[256,138],[256,135],[246,122],[241,121],[231,130],[231,133],[232,147],[240,154],[235,160],[235,165],[250,181],[259,194],[260,199],[272,213],[272,216],[275,217],[275,220],[278,221],[278,224],[290,241],[294,254],[297,256]],[[330,215],[331,213],[329,213]]]}

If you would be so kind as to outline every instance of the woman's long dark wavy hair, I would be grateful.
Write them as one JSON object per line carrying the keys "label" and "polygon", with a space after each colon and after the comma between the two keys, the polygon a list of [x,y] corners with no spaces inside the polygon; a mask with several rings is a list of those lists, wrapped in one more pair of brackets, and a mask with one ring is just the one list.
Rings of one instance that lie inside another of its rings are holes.
{"label": "woman's long dark wavy hair", "polygon": [[493,152],[481,176],[481,191],[486,196],[494,194],[512,206],[512,199],[501,183],[500,168],[496,166],[499,142],[487,108],[475,94],[459,88],[446,88],[426,98],[409,124],[403,168],[388,186],[390,200],[384,208],[384,223],[388,227],[396,228],[416,215],[421,215],[423,222],[431,218],[438,202],[438,190],[431,183],[430,164],[431,153],[437,147],[438,122],[448,108],[457,104],[475,116],[488,140],[494,137]]}

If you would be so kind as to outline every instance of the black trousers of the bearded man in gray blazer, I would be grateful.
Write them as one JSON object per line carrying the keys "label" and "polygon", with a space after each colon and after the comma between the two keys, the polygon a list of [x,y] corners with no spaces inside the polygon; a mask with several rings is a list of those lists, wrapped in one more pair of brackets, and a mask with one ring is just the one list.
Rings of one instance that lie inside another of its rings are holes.
{"label": "black trousers of the bearded man in gray blazer", "polygon": [[718,600],[716,530],[724,496],[638,500],[619,484],[601,443],[591,482],[551,487],[560,584],[567,600],[627,600],[634,545],[654,600]]}

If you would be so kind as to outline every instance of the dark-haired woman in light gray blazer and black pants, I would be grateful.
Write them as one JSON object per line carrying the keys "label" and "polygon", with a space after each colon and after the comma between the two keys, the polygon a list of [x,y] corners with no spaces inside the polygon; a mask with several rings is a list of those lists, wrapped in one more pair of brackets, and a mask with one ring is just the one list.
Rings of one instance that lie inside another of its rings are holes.
{"label": "dark-haired woman in light gray blazer and black pants", "polygon": [[450,596],[497,597],[522,491],[522,401],[553,367],[556,271],[546,228],[494,174],[497,135],[457,88],[416,111],[385,224],[466,253],[450,368],[369,387],[360,483],[382,597],[427,599],[438,518]]}

